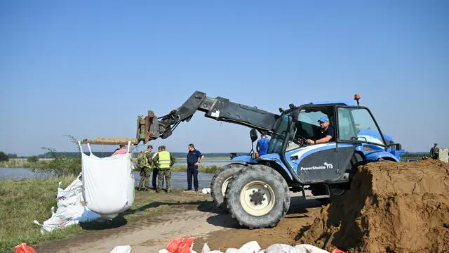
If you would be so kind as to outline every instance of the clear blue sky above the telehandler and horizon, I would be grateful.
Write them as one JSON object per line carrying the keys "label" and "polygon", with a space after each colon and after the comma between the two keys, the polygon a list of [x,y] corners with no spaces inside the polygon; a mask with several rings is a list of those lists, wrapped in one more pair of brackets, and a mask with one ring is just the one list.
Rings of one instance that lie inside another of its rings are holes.
{"label": "clear blue sky above the telehandler and horizon", "polygon": [[[0,150],[135,136],[194,91],[277,112],[361,94],[410,151],[449,147],[448,1],[1,1]],[[250,150],[197,112],[170,151]],[[115,146],[95,145],[95,150]]]}

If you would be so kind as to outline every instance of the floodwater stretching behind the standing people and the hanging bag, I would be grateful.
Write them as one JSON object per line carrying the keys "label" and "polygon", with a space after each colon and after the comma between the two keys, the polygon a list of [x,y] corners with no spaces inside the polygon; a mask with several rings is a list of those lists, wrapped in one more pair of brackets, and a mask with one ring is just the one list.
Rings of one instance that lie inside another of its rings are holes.
{"label": "floodwater stretching behind the standing people and the hanging bag", "polygon": [[[202,162],[201,162],[202,164]],[[140,181],[139,171],[133,171],[134,175],[134,185],[138,186]],[[199,173],[198,182],[199,189],[210,188],[210,181],[212,180],[213,174],[209,173]],[[27,168],[0,168],[0,179],[46,179],[48,174],[34,173],[31,169]],[[192,182],[193,183],[193,182]],[[187,172],[173,171],[171,173],[171,184],[175,189],[187,189]],[[149,186],[152,186],[152,177],[149,178]],[[164,183],[165,186],[165,183]]]}

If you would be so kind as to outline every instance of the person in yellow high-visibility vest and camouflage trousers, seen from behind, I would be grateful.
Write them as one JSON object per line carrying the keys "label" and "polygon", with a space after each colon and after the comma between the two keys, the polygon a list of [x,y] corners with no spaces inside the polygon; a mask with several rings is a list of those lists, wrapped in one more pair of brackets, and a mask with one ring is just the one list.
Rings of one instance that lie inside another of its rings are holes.
{"label": "person in yellow high-visibility vest and camouflage trousers, seen from behind", "polygon": [[175,157],[166,151],[166,146],[161,146],[161,151],[156,153],[153,158],[153,164],[159,170],[158,174],[158,184],[156,188],[156,193],[161,192],[163,179],[166,179],[166,189],[167,193],[171,192],[171,171],[170,167],[175,164]]}

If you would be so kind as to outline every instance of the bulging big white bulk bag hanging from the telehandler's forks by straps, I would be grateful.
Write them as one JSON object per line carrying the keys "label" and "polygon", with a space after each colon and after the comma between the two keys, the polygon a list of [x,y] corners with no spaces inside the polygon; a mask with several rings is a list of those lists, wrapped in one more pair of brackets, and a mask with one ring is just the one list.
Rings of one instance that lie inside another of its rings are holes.
{"label": "bulging big white bulk bag hanging from the telehandler's forks by straps", "polygon": [[[128,143],[128,150],[129,150]],[[79,143],[81,148],[81,143]],[[83,198],[86,206],[102,216],[116,216],[134,202],[133,162],[130,153],[96,157],[81,150]]]}

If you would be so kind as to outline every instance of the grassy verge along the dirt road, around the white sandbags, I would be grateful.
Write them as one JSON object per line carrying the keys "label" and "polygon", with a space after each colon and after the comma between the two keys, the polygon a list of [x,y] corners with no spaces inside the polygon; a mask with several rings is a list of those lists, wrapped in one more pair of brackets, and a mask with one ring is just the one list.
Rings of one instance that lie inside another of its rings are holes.
{"label": "grassy verge along the dirt road, around the white sandbags", "polygon": [[183,194],[182,190],[173,193],[155,193],[135,191],[133,205],[117,216],[112,222],[92,222],[60,228],[41,235],[40,228],[33,221],[40,223],[51,217],[51,207],[57,208],[56,196],[58,183],[62,188],[69,185],[76,177],[66,176],[51,179],[13,179],[0,181],[0,252],[14,252],[14,246],[21,242],[36,248],[36,245],[48,240],[67,238],[71,235],[90,233],[91,231],[123,226],[127,221],[139,216],[155,214],[172,207],[187,203],[210,200],[209,195]]}

